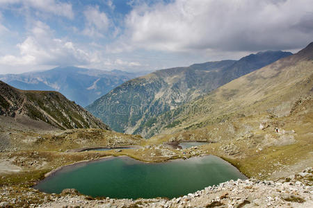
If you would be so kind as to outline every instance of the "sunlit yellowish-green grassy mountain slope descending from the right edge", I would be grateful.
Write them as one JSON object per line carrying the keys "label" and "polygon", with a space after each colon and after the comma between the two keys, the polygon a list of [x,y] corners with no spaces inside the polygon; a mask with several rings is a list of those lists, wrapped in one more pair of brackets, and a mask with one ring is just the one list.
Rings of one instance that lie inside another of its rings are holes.
{"label": "sunlit yellowish-green grassy mountain slope descending from the right edge", "polygon": [[152,118],[146,135],[192,130],[228,119],[260,114],[290,114],[294,103],[313,93],[313,43],[219,87],[211,94]]}

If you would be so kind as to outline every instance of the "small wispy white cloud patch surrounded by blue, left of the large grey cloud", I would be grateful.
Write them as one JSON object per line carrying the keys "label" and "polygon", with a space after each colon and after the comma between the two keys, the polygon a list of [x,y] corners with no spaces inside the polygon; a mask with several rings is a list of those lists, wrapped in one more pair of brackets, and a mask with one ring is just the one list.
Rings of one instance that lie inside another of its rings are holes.
{"label": "small wispy white cloud patch surrounded by blue, left of the large grey cloud", "polygon": [[99,11],[99,6],[88,7],[83,12],[86,17],[86,27],[83,30],[83,35],[90,37],[104,37],[104,33],[109,28],[109,18],[106,13]]}

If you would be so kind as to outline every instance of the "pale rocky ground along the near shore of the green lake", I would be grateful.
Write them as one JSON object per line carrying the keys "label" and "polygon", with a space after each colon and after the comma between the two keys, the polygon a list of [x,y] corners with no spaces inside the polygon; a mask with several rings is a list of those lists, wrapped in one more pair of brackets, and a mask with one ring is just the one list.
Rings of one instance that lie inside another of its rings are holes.
{"label": "pale rocky ground along the near shore of the green lake", "polygon": [[[65,189],[60,195],[44,194],[42,203],[29,204],[29,207],[313,207],[312,173],[313,169],[307,168],[275,181],[231,180],[171,200],[95,199],[80,195],[74,189]],[[10,187],[3,187],[0,207],[14,206],[19,198],[31,198],[39,193],[37,190],[25,191],[12,198],[14,192]]]}

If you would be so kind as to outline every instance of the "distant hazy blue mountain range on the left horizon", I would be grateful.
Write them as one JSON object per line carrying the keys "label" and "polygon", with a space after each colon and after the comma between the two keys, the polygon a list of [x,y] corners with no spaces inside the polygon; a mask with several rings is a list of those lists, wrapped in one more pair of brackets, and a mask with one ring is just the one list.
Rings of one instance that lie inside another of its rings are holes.
{"label": "distant hazy blue mountain range on the left horizon", "polygon": [[86,106],[114,87],[139,76],[125,71],[102,71],[78,67],[57,67],[47,71],[0,75],[0,80],[24,90],[53,90]]}

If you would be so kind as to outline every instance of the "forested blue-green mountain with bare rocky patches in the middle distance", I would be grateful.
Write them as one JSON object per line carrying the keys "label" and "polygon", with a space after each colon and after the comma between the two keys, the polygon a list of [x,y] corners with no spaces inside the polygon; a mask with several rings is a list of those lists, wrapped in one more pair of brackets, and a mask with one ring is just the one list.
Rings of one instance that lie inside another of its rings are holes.
{"label": "forested blue-green mountain with bare rocky patches in the middle distance", "polygon": [[291,53],[266,51],[238,61],[206,62],[155,71],[116,87],[87,109],[113,130],[140,134],[143,128],[151,127],[153,116],[173,110],[288,55]]}

